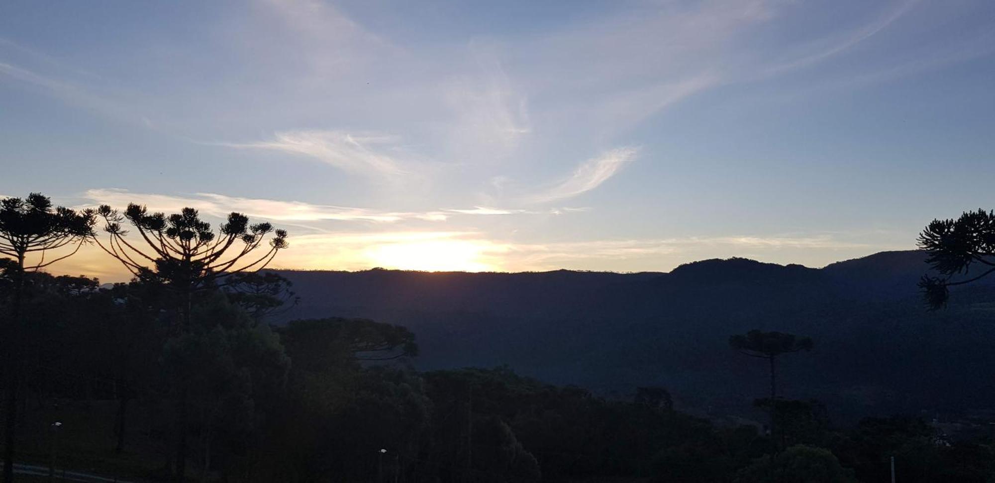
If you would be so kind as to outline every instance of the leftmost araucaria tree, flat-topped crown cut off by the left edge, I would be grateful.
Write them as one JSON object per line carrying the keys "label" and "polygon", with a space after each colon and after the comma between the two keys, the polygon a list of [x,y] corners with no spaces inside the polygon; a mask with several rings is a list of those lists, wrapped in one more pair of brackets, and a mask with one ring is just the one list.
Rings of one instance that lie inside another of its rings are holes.
{"label": "leftmost araucaria tree, flat-topped crown cut off by the left edge", "polygon": [[[9,277],[10,320],[3,330],[4,383],[7,389],[6,440],[4,449],[4,481],[14,481],[14,425],[17,420],[18,387],[21,385],[21,309],[24,303],[24,273],[38,270],[65,259],[94,236],[94,213],[77,212],[64,207],[53,208],[52,201],[40,193],[27,198],[5,198],[0,201],[0,254],[11,256],[5,276]],[[76,245],[72,251],[57,252],[46,260],[52,250]],[[28,258],[31,257],[29,260]]]}

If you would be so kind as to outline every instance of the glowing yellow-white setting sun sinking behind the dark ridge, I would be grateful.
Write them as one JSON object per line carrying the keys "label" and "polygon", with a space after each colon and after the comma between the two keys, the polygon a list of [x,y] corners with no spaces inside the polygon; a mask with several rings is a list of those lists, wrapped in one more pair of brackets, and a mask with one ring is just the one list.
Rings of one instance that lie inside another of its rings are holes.
{"label": "glowing yellow-white setting sun sinking behind the dark ridge", "polygon": [[376,266],[424,271],[489,271],[490,246],[470,240],[428,240],[379,244],[366,251]]}

